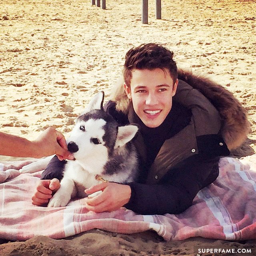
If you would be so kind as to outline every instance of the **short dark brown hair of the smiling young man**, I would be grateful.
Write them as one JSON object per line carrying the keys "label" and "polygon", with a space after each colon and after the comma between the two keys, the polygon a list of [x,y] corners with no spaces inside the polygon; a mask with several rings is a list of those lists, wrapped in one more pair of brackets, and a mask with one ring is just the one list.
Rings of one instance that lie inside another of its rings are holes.
{"label": "short dark brown hair of the smiling young man", "polygon": [[176,62],[172,59],[173,52],[164,48],[160,44],[142,44],[130,49],[125,56],[124,62],[124,82],[130,87],[132,71],[135,69],[152,70],[155,68],[166,68],[173,82],[178,77]]}

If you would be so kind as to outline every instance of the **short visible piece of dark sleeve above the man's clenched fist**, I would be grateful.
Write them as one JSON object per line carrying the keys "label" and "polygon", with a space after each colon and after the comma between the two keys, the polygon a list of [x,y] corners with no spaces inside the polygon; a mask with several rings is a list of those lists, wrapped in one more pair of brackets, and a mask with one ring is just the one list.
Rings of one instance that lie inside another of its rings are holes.
{"label": "short visible piece of dark sleeve above the man's clenched fist", "polygon": [[53,178],[57,178],[58,180],[62,180],[63,178],[63,168],[66,161],[60,161],[57,156],[54,156],[44,172],[41,175],[41,180],[52,180]]}

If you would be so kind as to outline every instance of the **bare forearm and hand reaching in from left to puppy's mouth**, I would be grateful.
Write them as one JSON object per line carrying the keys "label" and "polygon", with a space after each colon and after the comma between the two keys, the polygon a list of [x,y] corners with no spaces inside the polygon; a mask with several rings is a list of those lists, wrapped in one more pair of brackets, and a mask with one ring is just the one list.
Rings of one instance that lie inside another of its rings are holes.
{"label": "bare forearm and hand reaching in from left to puppy's mouth", "polygon": [[64,136],[53,127],[44,130],[34,141],[0,132],[0,155],[40,158],[53,154],[60,160],[73,159]]}

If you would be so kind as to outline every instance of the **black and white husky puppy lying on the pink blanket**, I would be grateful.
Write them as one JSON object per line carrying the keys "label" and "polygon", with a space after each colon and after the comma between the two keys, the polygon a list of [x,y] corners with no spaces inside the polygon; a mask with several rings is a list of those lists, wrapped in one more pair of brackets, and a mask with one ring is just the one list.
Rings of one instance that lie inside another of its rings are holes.
{"label": "black and white husky puppy lying on the pink blanket", "polygon": [[[97,174],[111,182],[136,180],[137,152],[130,141],[136,135],[138,127],[118,126],[114,118],[103,110],[103,100],[104,92],[99,92],[78,117],[67,139],[68,150],[74,155],[74,160],[67,160],[60,188],[48,206],[66,206],[74,196],[85,197],[84,189],[101,182],[96,180]],[[45,168],[46,162],[49,160],[37,165]],[[25,168],[21,172],[30,170]]]}

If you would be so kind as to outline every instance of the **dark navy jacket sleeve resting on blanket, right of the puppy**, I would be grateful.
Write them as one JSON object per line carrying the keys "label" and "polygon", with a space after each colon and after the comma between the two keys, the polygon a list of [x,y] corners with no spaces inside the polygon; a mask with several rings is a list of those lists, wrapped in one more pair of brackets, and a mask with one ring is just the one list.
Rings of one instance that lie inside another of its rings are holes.
{"label": "dark navy jacket sleeve resting on blanket, right of the puppy", "polygon": [[190,158],[169,170],[158,184],[129,183],[132,194],[126,208],[138,214],[179,214],[192,205],[199,190],[218,177],[218,160]]}

